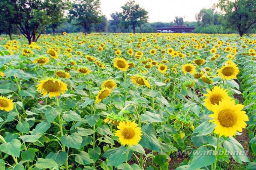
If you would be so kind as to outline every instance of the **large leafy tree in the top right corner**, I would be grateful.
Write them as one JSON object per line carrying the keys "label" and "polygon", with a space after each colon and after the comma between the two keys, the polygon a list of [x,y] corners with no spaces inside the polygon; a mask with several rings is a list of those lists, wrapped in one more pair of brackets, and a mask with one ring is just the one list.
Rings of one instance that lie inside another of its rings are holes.
{"label": "large leafy tree in the top right corner", "polygon": [[238,30],[241,37],[256,24],[255,0],[219,0],[217,6],[225,12],[224,25]]}

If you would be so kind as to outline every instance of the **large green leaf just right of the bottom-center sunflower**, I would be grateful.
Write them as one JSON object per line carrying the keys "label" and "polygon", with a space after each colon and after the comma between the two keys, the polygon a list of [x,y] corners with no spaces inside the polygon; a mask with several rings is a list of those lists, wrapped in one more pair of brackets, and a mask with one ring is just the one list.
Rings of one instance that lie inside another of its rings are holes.
{"label": "large green leaf just right of the bottom-center sunflower", "polygon": [[156,138],[156,131],[154,130],[153,124],[144,124],[141,131],[142,136],[139,144],[144,148],[160,152],[161,146],[159,140]]}

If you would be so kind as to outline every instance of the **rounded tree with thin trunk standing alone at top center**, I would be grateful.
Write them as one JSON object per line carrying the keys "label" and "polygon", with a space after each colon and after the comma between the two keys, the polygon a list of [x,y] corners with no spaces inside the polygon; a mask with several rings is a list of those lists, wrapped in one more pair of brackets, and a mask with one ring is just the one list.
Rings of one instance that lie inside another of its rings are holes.
{"label": "rounded tree with thin trunk standing alone at top center", "polygon": [[141,26],[148,20],[148,12],[140,7],[139,4],[135,4],[134,0],[128,1],[121,8],[123,9],[122,25],[126,28],[132,25],[134,34],[136,25]]}

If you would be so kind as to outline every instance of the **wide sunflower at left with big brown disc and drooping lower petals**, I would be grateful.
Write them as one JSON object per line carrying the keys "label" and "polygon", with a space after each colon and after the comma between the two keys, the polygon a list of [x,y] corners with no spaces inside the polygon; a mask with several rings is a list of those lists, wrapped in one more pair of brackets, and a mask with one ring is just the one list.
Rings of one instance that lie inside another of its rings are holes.
{"label": "wide sunflower at left with big brown disc and drooping lower petals", "polygon": [[67,84],[54,78],[47,78],[46,80],[38,81],[37,90],[42,91],[43,96],[49,93],[49,98],[54,96],[60,96],[60,93],[64,94],[67,90]]}

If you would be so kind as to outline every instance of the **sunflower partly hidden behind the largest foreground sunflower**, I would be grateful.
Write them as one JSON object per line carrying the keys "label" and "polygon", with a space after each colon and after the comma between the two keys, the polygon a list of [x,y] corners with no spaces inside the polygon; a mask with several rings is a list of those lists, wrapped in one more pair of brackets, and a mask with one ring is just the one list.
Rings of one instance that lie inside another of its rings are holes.
{"label": "sunflower partly hidden behind the largest foreground sunflower", "polygon": [[214,86],[212,90],[207,89],[207,94],[204,94],[207,98],[204,99],[204,106],[212,110],[215,105],[219,105],[222,100],[231,100],[226,89],[222,89],[220,86]]}

